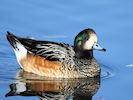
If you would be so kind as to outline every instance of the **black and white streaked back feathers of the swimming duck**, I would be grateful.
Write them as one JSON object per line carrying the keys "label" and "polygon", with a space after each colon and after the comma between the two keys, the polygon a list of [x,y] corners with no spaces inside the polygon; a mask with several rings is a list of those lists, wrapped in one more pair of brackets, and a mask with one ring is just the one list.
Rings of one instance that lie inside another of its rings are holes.
{"label": "black and white streaked back feathers of the swimming duck", "polygon": [[49,41],[36,41],[26,38],[18,38],[18,40],[29,52],[44,57],[44,59],[49,61],[59,61],[69,67],[75,65],[75,52],[73,47],[68,44]]}

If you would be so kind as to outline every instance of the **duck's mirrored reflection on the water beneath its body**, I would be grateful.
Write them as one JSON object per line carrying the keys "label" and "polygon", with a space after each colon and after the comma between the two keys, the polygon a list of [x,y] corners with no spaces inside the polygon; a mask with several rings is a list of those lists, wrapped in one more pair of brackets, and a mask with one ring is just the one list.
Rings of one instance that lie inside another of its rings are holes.
{"label": "duck's mirrored reflection on the water beneath its body", "polygon": [[92,100],[100,77],[89,79],[51,79],[20,70],[10,85],[8,96],[38,96],[40,100]]}

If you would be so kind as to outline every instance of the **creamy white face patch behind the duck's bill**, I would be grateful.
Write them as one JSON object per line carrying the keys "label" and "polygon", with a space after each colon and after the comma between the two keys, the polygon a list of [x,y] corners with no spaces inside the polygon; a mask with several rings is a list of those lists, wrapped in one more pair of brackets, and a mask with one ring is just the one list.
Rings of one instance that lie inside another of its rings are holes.
{"label": "creamy white face patch behind the duck's bill", "polygon": [[85,50],[92,50],[92,47],[93,47],[95,42],[96,43],[98,42],[96,34],[90,34],[89,40],[87,40],[84,44],[84,49]]}

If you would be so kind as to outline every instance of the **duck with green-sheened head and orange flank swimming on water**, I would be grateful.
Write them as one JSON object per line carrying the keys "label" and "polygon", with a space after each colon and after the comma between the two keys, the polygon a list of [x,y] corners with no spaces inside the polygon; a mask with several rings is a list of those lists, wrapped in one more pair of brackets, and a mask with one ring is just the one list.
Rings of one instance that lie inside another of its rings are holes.
{"label": "duck with green-sheened head and orange flank swimming on water", "polygon": [[7,31],[20,68],[47,78],[90,78],[100,75],[93,50],[106,51],[96,32],[87,28],[77,34],[74,45],[21,38]]}

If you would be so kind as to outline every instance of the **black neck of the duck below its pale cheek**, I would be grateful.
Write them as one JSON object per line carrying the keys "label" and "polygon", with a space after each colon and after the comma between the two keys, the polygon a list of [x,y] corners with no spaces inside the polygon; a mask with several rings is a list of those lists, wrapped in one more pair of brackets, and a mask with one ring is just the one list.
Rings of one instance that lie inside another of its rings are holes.
{"label": "black neck of the duck below its pale cheek", "polygon": [[93,51],[92,50],[78,50],[75,51],[76,57],[79,59],[92,59]]}

